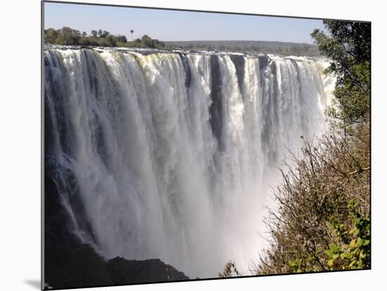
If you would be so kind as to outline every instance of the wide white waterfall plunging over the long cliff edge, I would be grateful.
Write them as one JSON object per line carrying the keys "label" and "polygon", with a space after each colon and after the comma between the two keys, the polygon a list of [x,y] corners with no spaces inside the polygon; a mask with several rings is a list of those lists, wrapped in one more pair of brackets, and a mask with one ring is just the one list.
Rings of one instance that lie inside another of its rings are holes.
{"label": "wide white waterfall plunging over the long cliff edge", "polygon": [[258,257],[286,148],[324,129],[318,60],[47,46],[44,68],[45,157],[72,230],[191,278]]}

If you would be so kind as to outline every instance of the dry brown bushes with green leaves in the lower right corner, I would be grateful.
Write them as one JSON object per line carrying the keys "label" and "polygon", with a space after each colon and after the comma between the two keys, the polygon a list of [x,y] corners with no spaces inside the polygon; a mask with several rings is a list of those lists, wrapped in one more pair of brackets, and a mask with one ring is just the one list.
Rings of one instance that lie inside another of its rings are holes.
{"label": "dry brown bushes with green leaves in the lower right corner", "polygon": [[370,267],[369,123],[304,141],[274,190],[265,221],[269,247],[253,273]]}

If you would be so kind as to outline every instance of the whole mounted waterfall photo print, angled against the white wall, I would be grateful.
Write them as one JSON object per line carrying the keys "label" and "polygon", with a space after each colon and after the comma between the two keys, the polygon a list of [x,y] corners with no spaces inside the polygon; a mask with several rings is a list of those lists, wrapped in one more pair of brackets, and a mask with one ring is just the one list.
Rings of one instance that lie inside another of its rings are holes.
{"label": "whole mounted waterfall photo print, angled against the white wall", "polygon": [[44,289],[370,269],[370,22],[42,6]]}

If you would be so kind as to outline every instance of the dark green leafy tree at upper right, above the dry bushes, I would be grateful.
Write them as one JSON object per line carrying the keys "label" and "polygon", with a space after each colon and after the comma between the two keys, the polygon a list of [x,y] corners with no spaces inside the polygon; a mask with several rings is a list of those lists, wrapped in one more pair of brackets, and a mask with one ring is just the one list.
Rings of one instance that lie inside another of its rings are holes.
{"label": "dark green leafy tree at upper right, above the dry bushes", "polygon": [[314,30],[312,37],[323,56],[331,60],[326,72],[337,79],[336,108],[329,116],[347,127],[364,121],[369,113],[371,24],[324,20],[325,29]]}

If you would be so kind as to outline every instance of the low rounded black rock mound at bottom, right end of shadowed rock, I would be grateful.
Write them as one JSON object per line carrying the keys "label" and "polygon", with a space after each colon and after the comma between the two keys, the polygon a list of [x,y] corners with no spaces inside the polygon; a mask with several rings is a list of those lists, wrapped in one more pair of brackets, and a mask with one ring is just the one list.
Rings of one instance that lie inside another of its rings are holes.
{"label": "low rounded black rock mound at bottom, right end of shadowed rock", "polygon": [[116,257],[108,261],[107,268],[115,284],[189,280],[183,272],[160,259],[136,261]]}

